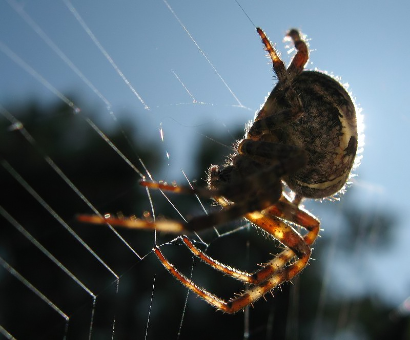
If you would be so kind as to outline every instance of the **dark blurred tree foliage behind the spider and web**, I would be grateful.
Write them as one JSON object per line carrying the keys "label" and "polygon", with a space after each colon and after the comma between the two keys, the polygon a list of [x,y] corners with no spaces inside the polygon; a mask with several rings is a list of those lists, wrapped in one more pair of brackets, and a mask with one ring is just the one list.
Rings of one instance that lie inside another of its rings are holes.
{"label": "dark blurred tree foliage behind the spider and web", "polygon": [[[139,176],[92,131],[81,114],[73,114],[65,105],[40,107],[35,102],[22,103],[12,112],[33,136],[35,145],[28,143],[22,130],[12,129],[10,121],[0,119],[3,162],[6,161],[109,267],[120,274],[116,292],[113,275],[33,199],[27,187],[10,173],[10,167],[0,167],[0,205],[97,295],[92,338],[110,338],[114,318],[115,338],[144,338],[148,315],[149,339],[168,338],[170,334],[177,338],[179,331],[180,339],[243,338],[245,314],[215,312],[192,293],[180,327],[187,289],[153,256],[150,251],[154,245],[152,231],[117,229],[138,255],[144,257],[140,260],[107,226],[90,226],[76,221],[76,214],[91,211],[47,164],[44,155],[50,156],[101,213],[121,211],[124,215],[140,216],[150,211],[146,192],[138,185]],[[90,115],[93,120],[98,120],[97,117],[98,113]],[[140,158],[148,169],[164,167],[165,161],[156,152],[160,147],[159,139],[140,138],[140,128],[131,121],[120,121],[110,126],[107,135],[134,164],[138,164]],[[203,134],[212,132],[204,131]],[[234,133],[237,138],[241,135],[242,131]],[[231,137],[224,136],[217,136],[217,140],[228,145],[232,142]],[[203,184],[208,166],[222,163],[228,153],[226,148],[209,141],[200,145],[196,152],[192,161],[197,175],[192,178]],[[140,164],[138,168],[141,169]],[[151,194],[157,214],[180,219],[160,193]],[[184,216],[201,213],[195,198],[174,195],[171,200]],[[207,209],[212,208],[211,202],[202,201]],[[348,194],[342,202],[324,202],[321,208],[330,214],[336,209],[341,211],[345,223],[344,230],[340,231],[342,237],[337,240],[342,249],[338,256],[345,256],[345,261],[360,261],[364,252],[384,252],[392,247],[391,231],[396,221],[389,211],[359,210],[350,204]],[[22,237],[9,221],[4,217],[0,217],[0,221],[1,257],[59,308],[69,312],[68,338],[86,338],[90,325],[84,320],[90,320],[93,305],[90,295]],[[235,221],[218,230],[222,233],[243,225],[243,221]],[[211,228],[200,236],[210,244],[207,248],[210,256],[244,270],[253,270],[255,264],[267,261],[278,246],[253,227],[244,227],[223,237],[217,237]],[[157,243],[164,244],[173,238],[173,235],[158,233]],[[223,277],[198,260],[193,264],[190,252],[178,244],[167,244],[161,249],[181,271],[189,275],[194,268],[195,282],[223,298],[243,289],[241,283]],[[267,302],[261,299],[250,309],[250,339],[410,338],[408,315],[392,310],[371,293],[325,295],[329,287],[321,263],[332,246],[332,239],[320,238],[313,253],[316,261],[311,261],[293,284],[275,289],[274,298],[268,294]],[[388,268],[386,275],[394,280],[394,273]],[[0,293],[0,324],[17,338],[48,339],[64,335],[66,326],[61,317],[6,270],[0,271]]]}

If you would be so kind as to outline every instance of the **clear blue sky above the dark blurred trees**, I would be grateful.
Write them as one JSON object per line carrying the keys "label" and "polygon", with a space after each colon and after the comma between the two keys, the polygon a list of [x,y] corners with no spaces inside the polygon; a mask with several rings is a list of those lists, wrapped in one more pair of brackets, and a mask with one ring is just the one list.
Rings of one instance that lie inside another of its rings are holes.
{"label": "clear blue sky above the dark blurred trees", "polygon": [[[70,11],[70,4],[100,48]],[[229,133],[243,126],[275,79],[255,28],[234,1],[168,4],[173,12],[162,0],[2,1],[0,104],[10,108],[30,98],[44,105],[60,100],[39,81],[42,77],[59,93],[79,98],[74,104],[80,114],[100,112],[103,129],[114,124],[111,111],[135,119],[149,138],[159,139],[162,128],[162,150],[153,152],[162,157],[168,153],[168,170],[150,171],[156,179],[181,180],[181,168],[190,176],[191,151],[206,138],[201,133]],[[404,252],[410,241],[405,219],[410,171],[405,152],[410,123],[408,3],[240,4],[277,43],[285,61],[292,54],[286,53],[283,36],[289,28],[299,28],[309,39],[308,68],[334,73],[350,84],[365,123],[363,160],[354,183],[356,202],[385,205],[400,219],[394,252],[379,254],[378,262],[369,261],[379,268],[375,269],[380,271],[378,284],[391,288],[386,296],[394,303],[404,300],[410,291],[409,269],[394,283],[383,281],[382,275],[387,267],[393,271],[403,271],[403,264],[410,267]],[[31,70],[40,76],[33,77]]]}

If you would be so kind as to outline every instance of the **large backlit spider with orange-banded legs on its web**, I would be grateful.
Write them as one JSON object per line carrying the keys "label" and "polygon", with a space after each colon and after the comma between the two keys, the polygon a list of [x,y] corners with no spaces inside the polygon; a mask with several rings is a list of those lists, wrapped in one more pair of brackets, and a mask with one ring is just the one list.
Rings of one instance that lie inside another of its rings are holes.
{"label": "large backlit spider with orange-banded legs on its web", "polygon": [[[304,210],[304,198],[320,199],[344,189],[357,151],[355,105],[343,86],[317,71],[304,71],[308,47],[296,29],[288,36],[297,50],[286,69],[265,33],[257,28],[272,59],[278,83],[253,124],[224,166],[211,165],[208,187],[185,187],[142,181],[141,185],[174,193],[213,198],[223,208],[186,223],[171,220],[106,218],[80,215],[88,223],[111,223],[133,228],[172,232],[197,231],[244,217],[280,241],[284,250],[252,273],[224,265],[198,249],[190,239],[182,242],[203,262],[248,284],[248,289],[229,301],[218,298],[181,274],[161,253],[153,250],[166,269],[183,285],[218,310],[235,313],[252,305],[276,286],[292,280],[308,264],[319,220]],[[292,190],[290,199],[283,182]],[[308,230],[301,236],[289,223]]]}

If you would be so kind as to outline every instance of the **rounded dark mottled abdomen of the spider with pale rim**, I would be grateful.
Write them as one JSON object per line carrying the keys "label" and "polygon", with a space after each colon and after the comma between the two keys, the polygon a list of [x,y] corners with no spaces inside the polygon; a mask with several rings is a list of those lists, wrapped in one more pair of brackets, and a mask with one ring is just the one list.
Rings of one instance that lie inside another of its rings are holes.
{"label": "rounded dark mottled abdomen of the spider with pale rim", "polygon": [[[300,196],[331,196],[344,186],[356,156],[355,106],[338,81],[320,72],[302,72],[293,87],[301,99],[303,115],[274,130],[273,135],[281,143],[305,150],[308,163],[284,180]],[[279,99],[274,112],[281,109],[281,103]]]}

